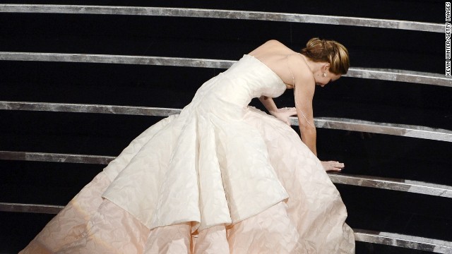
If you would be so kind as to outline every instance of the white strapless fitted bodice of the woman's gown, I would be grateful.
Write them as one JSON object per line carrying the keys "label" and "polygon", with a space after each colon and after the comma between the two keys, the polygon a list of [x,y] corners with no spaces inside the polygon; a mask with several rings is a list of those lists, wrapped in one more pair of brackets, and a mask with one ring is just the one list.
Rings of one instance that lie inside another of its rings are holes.
{"label": "white strapless fitted bodice of the woman's gown", "polygon": [[244,107],[251,99],[265,95],[278,97],[286,85],[266,64],[254,56],[245,54],[227,71],[206,82],[196,97],[219,99]]}

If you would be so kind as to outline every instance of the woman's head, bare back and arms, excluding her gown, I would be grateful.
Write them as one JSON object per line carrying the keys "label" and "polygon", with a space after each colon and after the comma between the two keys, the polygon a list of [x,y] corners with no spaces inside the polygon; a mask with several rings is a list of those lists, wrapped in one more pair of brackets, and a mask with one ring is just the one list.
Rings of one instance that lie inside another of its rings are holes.
{"label": "woman's head, bare back and arms, excluding her gown", "polygon": [[[254,49],[250,55],[255,56],[280,76],[287,88],[294,89],[296,107],[292,109],[278,109],[271,97],[262,96],[259,99],[270,114],[287,125],[290,125],[288,117],[299,112],[297,116],[302,141],[314,155],[317,155],[316,128],[312,114],[314,85],[323,87],[347,73],[350,66],[347,49],[337,42],[314,38],[309,40],[302,54],[297,54],[280,42],[271,40]],[[296,66],[297,69],[292,71],[291,66]],[[296,90],[295,87],[298,89]],[[322,164],[326,171],[340,171],[344,167],[344,164],[339,162],[322,162]]]}

